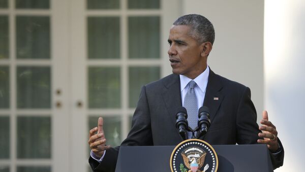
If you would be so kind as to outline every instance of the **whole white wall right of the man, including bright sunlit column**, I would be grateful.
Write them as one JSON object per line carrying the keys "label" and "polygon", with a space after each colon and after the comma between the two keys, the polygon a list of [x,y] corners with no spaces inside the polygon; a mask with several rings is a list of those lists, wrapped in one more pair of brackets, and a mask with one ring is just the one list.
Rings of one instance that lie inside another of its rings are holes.
{"label": "whole white wall right of the man, including bright sunlit column", "polygon": [[285,160],[276,171],[303,171],[305,1],[182,3],[183,14],[201,14],[215,26],[216,42],[208,60],[212,70],[249,86],[258,118],[265,108],[277,126]]}

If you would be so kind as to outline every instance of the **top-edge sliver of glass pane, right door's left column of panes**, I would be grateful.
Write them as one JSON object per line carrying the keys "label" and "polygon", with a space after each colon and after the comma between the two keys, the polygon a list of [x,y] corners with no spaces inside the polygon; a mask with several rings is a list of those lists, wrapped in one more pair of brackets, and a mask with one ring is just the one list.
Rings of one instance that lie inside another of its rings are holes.
{"label": "top-edge sliver of glass pane, right door's left column of panes", "polygon": [[118,9],[119,0],[87,0],[87,9]]}

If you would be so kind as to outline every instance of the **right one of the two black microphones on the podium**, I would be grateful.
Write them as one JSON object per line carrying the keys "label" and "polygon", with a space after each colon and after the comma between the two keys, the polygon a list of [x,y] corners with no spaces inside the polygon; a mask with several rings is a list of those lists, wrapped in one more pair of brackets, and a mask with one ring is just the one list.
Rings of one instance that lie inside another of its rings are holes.
{"label": "right one of the two black microphones on the podium", "polygon": [[[207,128],[210,126],[210,119],[209,119],[209,109],[207,107],[201,107],[198,110],[198,127],[199,136],[197,138],[203,136],[207,132]],[[197,134],[198,135],[198,134]]]}

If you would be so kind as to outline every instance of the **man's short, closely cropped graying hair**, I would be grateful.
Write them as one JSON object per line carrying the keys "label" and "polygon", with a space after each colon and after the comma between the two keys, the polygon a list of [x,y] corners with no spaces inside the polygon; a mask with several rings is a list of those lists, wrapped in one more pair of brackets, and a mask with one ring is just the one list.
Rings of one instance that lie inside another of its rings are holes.
{"label": "man's short, closely cropped graying hair", "polygon": [[215,30],[213,24],[198,14],[188,14],[179,17],[173,25],[187,25],[191,27],[191,36],[199,43],[214,43]]}

